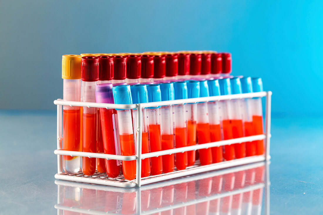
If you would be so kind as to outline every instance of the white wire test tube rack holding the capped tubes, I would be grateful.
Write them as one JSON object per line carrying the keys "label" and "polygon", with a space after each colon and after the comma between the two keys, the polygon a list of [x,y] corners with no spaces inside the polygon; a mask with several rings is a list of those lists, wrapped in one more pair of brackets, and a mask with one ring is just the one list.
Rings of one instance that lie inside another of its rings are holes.
{"label": "white wire test tube rack holding the capped tubes", "polygon": [[[161,102],[150,102],[142,104],[131,104],[131,105],[120,105],[120,104],[104,104],[104,103],[92,103],[92,102],[73,102],[73,101],[63,101],[61,99],[55,100],[54,104],[57,105],[57,171],[55,175],[56,179],[78,181],[92,184],[101,184],[109,185],[123,188],[130,187],[140,187],[141,185],[155,183],[158,181],[174,179],[178,177],[183,177],[187,175],[192,175],[196,173],[211,171],[215,169],[223,169],[228,167],[234,167],[249,163],[255,163],[265,160],[270,160],[269,148],[270,148],[270,111],[271,111],[271,91],[262,91],[255,93],[243,93],[243,94],[234,94],[234,95],[223,95],[223,96],[212,96],[212,97],[199,97],[199,98],[188,98],[188,99],[179,99],[171,101],[161,101]],[[161,150],[157,152],[150,153],[141,153],[141,129],[142,129],[142,108],[147,107],[157,107],[165,105],[175,105],[175,104],[186,104],[186,103],[198,103],[198,102],[208,102],[208,101],[225,101],[231,99],[243,99],[243,98],[256,98],[256,97],[266,97],[266,119],[265,119],[265,134],[234,138],[228,140],[221,140],[217,142],[197,144],[193,146],[187,146],[182,148],[173,148],[168,150]],[[121,155],[110,155],[103,153],[91,153],[91,152],[79,152],[79,151],[67,151],[62,150],[62,106],[81,106],[81,107],[94,107],[94,108],[118,108],[118,109],[137,109],[137,144],[136,144],[136,155],[132,156],[121,156]],[[187,167],[183,170],[175,170],[169,173],[163,173],[160,175],[151,175],[148,177],[141,177],[141,160],[145,158],[157,157],[167,154],[175,154],[178,152],[192,151],[197,149],[206,149],[212,147],[219,147],[224,145],[230,145],[234,143],[255,141],[255,140],[265,140],[265,153],[263,155],[255,155],[240,159],[234,159],[229,161],[222,161],[219,163],[209,164],[209,165],[200,165],[199,161],[196,162],[193,166]],[[62,169],[62,156],[80,156],[80,157],[89,157],[89,158],[103,158],[103,159],[115,159],[115,160],[136,160],[136,178],[133,180],[126,180],[122,175],[117,178],[109,178],[105,173],[95,172],[91,176],[86,176],[83,172],[78,172],[73,175],[68,175],[63,172]]]}

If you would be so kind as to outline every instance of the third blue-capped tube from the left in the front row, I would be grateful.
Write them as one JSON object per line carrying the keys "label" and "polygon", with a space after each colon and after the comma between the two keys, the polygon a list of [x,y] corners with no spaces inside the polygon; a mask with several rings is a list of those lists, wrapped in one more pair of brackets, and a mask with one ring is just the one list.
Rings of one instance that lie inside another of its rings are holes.
{"label": "third blue-capped tube from the left in the front row", "polygon": [[[147,85],[148,101],[161,101],[161,90],[158,84]],[[149,107],[148,111],[148,134],[149,146],[151,152],[161,151],[161,116],[160,106]],[[151,174],[159,175],[162,173],[162,159],[161,156],[151,158]]]}

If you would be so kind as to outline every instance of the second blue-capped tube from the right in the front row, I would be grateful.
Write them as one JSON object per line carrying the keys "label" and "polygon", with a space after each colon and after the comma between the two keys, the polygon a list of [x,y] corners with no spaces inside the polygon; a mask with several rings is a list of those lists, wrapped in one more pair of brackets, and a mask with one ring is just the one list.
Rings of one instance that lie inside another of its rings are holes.
{"label": "second blue-capped tube from the right in the front row", "polygon": [[[252,93],[251,77],[240,78],[242,93]],[[243,117],[245,126],[245,136],[255,135],[254,124],[252,120],[252,98],[245,98],[243,101]],[[256,155],[256,141],[245,143],[246,156]]]}

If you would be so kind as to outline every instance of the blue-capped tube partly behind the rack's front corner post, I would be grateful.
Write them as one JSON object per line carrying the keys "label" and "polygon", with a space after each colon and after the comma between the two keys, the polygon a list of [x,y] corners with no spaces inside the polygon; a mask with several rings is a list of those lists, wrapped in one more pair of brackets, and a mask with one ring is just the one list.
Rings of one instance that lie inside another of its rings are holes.
{"label": "blue-capped tube partly behind the rack's front corner post", "polygon": [[[130,86],[131,98],[133,104],[147,103],[147,87],[144,84],[136,84]],[[132,121],[133,128],[136,129],[137,125],[137,109],[132,109]],[[149,153],[149,139],[148,139],[148,118],[147,109],[142,109],[142,128],[141,128],[141,153]],[[134,131],[135,132],[135,131]],[[150,175],[150,158],[145,158],[141,162],[141,177],[147,177]]]}

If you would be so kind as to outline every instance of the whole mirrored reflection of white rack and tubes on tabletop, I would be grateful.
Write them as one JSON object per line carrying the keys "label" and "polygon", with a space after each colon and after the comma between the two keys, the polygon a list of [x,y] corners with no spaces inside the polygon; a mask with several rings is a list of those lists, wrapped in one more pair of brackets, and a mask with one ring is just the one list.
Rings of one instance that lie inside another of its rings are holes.
{"label": "whole mirrored reflection of white rack and tubes on tabletop", "polygon": [[[265,214],[270,214],[269,164],[270,161],[257,162],[144,185],[140,188],[117,188],[56,180],[58,197],[55,208],[58,210],[57,214],[182,214],[182,212],[241,214],[242,212],[258,215],[262,210]],[[243,179],[241,175],[250,177],[258,175],[258,179],[236,186]],[[231,183],[232,188],[227,187],[226,183]],[[264,188],[266,189],[263,199]],[[242,198],[248,195],[249,198]]]}

